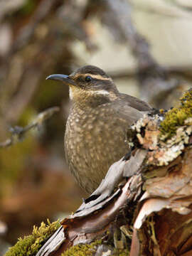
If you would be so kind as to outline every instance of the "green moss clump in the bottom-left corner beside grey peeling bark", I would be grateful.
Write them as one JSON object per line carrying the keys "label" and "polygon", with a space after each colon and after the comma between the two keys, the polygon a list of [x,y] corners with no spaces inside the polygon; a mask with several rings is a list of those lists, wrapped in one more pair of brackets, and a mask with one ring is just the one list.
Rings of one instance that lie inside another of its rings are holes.
{"label": "green moss clump in the bottom-left corner beside grey peeling bark", "polygon": [[53,235],[55,230],[60,227],[59,220],[50,223],[48,225],[41,223],[39,228],[33,227],[33,233],[27,235],[24,238],[18,238],[18,242],[13,247],[9,248],[4,256],[33,256],[36,255],[38,250],[46,242],[50,235]]}

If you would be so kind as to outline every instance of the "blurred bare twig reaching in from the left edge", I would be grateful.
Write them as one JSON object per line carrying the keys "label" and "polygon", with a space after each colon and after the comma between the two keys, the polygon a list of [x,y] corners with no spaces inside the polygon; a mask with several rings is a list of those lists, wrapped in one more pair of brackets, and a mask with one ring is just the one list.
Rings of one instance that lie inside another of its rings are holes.
{"label": "blurred bare twig reaching in from the left edge", "polygon": [[23,136],[26,134],[26,132],[39,127],[46,119],[50,118],[53,114],[55,114],[55,112],[58,112],[59,110],[59,107],[50,107],[47,110],[39,113],[33,122],[28,124],[26,127],[11,127],[11,138],[6,139],[5,142],[1,142],[0,147],[4,148],[16,144],[16,142],[23,139]]}

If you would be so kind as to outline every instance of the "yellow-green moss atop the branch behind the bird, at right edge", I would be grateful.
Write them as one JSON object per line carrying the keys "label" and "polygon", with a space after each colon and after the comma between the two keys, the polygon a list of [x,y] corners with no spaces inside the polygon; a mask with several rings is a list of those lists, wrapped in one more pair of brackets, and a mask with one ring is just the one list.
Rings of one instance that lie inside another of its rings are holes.
{"label": "yellow-green moss atop the branch behind the bird, at right edge", "polygon": [[192,117],[192,90],[186,92],[180,101],[180,106],[169,110],[160,124],[161,136],[165,139],[170,139],[176,134],[176,129],[184,125],[188,117]]}

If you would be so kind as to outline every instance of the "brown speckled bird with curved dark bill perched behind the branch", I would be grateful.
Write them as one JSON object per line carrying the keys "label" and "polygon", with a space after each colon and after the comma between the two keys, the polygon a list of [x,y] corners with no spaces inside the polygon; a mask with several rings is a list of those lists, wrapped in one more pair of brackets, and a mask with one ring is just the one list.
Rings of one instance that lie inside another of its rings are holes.
{"label": "brown speckled bird with curved dark bill perched behind the branch", "polygon": [[110,166],[130,151],[129,128],[151,106],[119,92],[110,75],[94,65],[46,79],[69,86],[72,105],[65,127],[65,159],[79,185],[92,193]]}

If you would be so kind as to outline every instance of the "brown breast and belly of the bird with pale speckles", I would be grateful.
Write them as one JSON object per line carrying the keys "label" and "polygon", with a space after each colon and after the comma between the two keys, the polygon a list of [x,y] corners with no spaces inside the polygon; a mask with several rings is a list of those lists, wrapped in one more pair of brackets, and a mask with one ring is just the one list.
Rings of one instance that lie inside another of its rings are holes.
{"label": "brown breast and belly of the bird with pale speckles", "polygon": [[88,193],[99,186],[114,161],[129,150],[127,120],[110,108],[73,110],[65,130],[65,156],[70,171]]}

